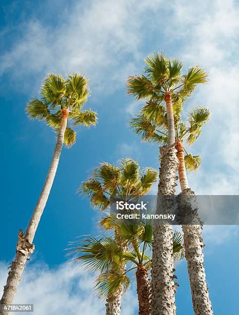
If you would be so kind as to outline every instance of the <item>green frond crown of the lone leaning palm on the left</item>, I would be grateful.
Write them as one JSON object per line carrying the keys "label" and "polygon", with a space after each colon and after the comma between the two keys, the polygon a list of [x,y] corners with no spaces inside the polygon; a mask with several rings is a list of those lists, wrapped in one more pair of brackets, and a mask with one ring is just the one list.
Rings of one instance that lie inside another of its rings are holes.
{"label": "green frond crown of the lone leaning palm on the left", "polygon": [[29,118],[46,121],[55,132],[61,125],[63,110],[68,111],[68,123],[64,143],[70,147],[75,143],[77,125],[91,126],[96,124],[97,113],[83,110],[90,94],[87,79],[78,73],[68,75],[50,74],[39,91],[41,98],[33,98],[26,107]]}

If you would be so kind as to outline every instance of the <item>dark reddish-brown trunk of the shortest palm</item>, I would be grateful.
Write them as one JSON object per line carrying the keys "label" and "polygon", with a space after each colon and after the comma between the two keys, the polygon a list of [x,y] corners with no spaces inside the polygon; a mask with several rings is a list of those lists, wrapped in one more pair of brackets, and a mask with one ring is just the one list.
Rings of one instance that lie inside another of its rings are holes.
{"label": "dark reddish-brown trunk of the shortest palm", "polygon": [[136,271],[137,295],[138,295],[138,315],[151,314],[151,284],[148,270],[138,267]]}

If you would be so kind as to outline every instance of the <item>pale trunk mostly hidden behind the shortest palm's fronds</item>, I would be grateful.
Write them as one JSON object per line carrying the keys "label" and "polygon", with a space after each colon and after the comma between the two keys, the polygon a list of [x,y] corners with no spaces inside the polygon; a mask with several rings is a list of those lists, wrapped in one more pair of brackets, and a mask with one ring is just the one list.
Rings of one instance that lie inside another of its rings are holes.
{"label": "pale trunk mostly hidden behind the shortest palm's fronds", "polygon": [[[115,243],[118,247],[121,247],[124,252],[127,251],[123,239],[118,235],[117,231],[114,231]],[[120,272],[125,271],[125,264],[120,266]],[[122,299],[122,288],[118,289],[114,295],[108,296],[106,299],[106,315],[119,315],[121,313],[121,299]]]}

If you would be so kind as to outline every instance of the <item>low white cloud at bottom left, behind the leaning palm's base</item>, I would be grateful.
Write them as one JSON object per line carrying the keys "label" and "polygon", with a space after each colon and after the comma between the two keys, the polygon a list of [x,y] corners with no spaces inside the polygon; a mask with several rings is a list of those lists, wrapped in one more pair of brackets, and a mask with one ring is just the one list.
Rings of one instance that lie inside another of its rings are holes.
{"label": "low white cloud at bottom left, behind the leaning palm's base", "polygon": [[[0,287],[6,282],[7,264],[0,262]],[[72,263],[49,269],[45,263],[28,264],[14,303],[34,304],[35,315],[99,315],[105,313],[104,301],[93,293],[94,277]],[[124,296],[123,315],[133,315],[137,298],[132,289]]]}

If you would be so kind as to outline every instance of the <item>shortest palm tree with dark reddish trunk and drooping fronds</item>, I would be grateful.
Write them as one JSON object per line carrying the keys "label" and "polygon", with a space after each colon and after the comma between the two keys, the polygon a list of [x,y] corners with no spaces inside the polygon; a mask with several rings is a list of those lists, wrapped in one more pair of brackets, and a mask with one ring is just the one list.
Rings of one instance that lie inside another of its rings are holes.
{"label": "shortest palm tree with dark reddish trunk and drooping fronds", "polygon": [[[73,254],[81,254],[75,261],[83,263],[86,269],[100,272],[96,279],[95,290],[99,298],[107,298],[117,293],[118,288],[126,292],[130,285],[127,274],[136,269],[137,296],[140,315],[151,313],[151,283],[148,271],[151,268],[149,252],[153,242],[153,221],[116,219],[108,215],[100,222],[106,230],[117,229],[118,234],[127,243],[127,251],[117,247],[111,236],[95,238],[89,236],[83,241],[76,242]],[[173,259],[181,260],[184,256],[182,235],[175,231],[173,234]],[[120,264],[124,261],[126,270],[121,272]],[[129,266],[130,265],[130,266]],[[176,276],[174,276],[176,278]]]}

